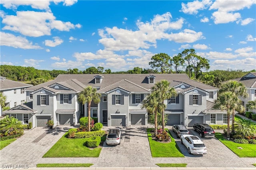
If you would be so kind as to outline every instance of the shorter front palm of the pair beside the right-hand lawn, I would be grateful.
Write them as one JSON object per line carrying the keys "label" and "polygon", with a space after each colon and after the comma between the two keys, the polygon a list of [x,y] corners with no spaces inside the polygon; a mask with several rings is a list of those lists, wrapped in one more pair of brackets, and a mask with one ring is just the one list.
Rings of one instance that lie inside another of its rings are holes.
{"label": "shorter front palm of the pair beside the right-hand lawn", "polygon": [[244,106],[241,105],[242,101],[234,94],[233,92],[222,92],[217,100],[215,101],[214,108],[221,109],[227,111],[228,117],[228,129],[227,129],[227,137],[230,137],[230,115],[232,115],[235,111],[242,111]]}

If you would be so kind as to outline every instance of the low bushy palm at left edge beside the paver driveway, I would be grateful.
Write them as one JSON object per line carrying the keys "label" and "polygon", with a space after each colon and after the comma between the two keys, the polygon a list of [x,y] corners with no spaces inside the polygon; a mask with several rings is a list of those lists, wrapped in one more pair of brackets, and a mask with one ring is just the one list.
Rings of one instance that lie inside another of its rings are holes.
{"label": "low bushy palm at left edge beside the paver driveway", "polygon": [[1,123],[1,130],[4,130],[4,135],[7,135],[9,131],[11,131],[14,127],[17,125],[21,125],[20,121],[16,119],[15,117],[9,117],[6,115],[4,119],[0,121]]}

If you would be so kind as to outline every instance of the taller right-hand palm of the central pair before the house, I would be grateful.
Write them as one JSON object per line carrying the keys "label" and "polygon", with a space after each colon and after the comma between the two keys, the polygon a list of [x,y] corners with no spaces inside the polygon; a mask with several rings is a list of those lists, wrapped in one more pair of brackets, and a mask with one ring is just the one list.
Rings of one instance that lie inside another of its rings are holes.
{"label": "taller right-hand palm of the central pair before the house", "polygon": [[157,82],[153,87],[152,91],[157,94],[159,108],[162,109],[162,129],[164,131],[164,109],[166,108],[166,104],[164,104],[164,100],[171,98],[172,96],[177,96],[177,93],[174,88],[170,88],[170,82],[167,80],[161,80],[160,82]]}

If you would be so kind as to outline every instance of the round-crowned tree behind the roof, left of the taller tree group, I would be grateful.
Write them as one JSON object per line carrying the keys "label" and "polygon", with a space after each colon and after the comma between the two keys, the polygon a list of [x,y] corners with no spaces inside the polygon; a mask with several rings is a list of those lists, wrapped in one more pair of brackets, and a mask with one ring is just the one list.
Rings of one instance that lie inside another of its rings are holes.
{"label": "round-crowned tree behind the roof, left of the taller tree group", "polygon": [[156,70],[161,73],[169,73],[171,71],[171,57],[166,53],[160,53],[152,56],[149,65],[152,68],[156,68]]}

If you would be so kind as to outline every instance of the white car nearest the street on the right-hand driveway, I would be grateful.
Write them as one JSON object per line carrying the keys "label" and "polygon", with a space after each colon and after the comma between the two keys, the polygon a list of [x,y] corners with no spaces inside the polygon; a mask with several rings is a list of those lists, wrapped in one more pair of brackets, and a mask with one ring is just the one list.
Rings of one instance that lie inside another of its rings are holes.
{"label": "white car nearest the street on the right-hand driveway", "polygon": [[181,144],[188,149],[189,154],[206,154],[207,149],[204,143],[194,135],[182,135],[180,137]]}

